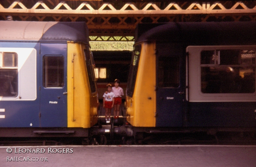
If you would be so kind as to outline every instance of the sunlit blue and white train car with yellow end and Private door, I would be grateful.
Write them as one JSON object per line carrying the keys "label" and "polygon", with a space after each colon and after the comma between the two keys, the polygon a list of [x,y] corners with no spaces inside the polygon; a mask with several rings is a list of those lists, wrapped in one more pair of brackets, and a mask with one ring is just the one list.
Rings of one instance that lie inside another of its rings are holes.
{"label": "sunlit blue and white train car with yellow end and Private door", "polygon": [[86,24],[0,21],[0,30],[0,135],[88,136],[98,99]]}

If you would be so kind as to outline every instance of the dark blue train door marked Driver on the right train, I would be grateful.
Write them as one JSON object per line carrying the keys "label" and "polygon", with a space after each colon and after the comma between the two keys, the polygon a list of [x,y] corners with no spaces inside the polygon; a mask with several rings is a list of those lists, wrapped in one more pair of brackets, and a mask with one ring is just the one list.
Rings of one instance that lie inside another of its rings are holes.
{"label": "dark blue train door marked Driver on the right train", "polygon": [[183,124],[185,74],[182,61],[182,47],[178,44],[156,44],[156,126]]}

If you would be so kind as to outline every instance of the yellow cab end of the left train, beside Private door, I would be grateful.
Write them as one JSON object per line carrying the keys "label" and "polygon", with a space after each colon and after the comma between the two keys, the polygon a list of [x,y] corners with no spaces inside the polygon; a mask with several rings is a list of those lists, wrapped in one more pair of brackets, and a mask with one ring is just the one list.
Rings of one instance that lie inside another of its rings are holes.
{"label": "yellow cab end of the left train, beside Private door", "polygon": [[90,48],[68,43],[68,127],[90,128],[97,123],[97,90]]}

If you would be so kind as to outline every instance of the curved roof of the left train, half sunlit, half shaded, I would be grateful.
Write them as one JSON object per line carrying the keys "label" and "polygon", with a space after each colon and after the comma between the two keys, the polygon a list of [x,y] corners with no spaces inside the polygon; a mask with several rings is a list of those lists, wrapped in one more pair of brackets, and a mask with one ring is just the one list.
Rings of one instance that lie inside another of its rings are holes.
{"label": "curved roof of the left train, half sunlit, half shaded", "polygon": [[85,22],[0,21],[0,29],[0,41],[74,41],[89,44]]}

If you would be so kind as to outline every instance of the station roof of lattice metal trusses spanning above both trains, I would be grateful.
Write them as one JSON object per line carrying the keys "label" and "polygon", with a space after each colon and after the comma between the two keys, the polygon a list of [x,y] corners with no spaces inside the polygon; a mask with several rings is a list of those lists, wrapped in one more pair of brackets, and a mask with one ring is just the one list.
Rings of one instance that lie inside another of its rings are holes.
{"label": "station roof of lattice metal trusses spanning above both trains", "polygon": [[85,21],[95,46],[133,42],[139,23],[256,20],[256,1],[152,1],[2,0],[0,20],[12,16],[21,21]]}

